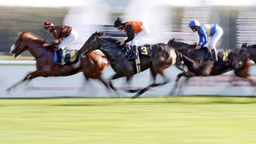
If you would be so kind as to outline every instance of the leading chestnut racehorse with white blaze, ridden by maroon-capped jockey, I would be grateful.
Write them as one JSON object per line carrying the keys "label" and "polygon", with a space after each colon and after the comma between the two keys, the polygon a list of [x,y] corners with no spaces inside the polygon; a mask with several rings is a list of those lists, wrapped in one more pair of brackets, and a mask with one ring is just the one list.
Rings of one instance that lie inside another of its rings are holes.
{"label": "leading chestnut racehorse with white blaze, ridden by maroon-capped jockey", "polygon": [[16,58],[19,54],[22,54],[23,51],[29,50],[30,54],[35,58],[37,70],[26,74],[25,78],[20,82],[15,83],[13,86],[10,86],[7,90],[10,91],[20,83],[28,82],[33,78],[69,76],[81,71],[87,80],[89,78],[98,79],[107,88],[109,87],[107,82],[105,82],[101,76],[102,70],[107,64],[106,57],[103,54],[93,51],[92,53],[81,57],[81,51],[78,50],[78,62],[73,65],[62,66],[54,62],[54,47],[44,47],[42,46],[44,42],[44,39],[39,38],[35,34],[27,32],[18,34],[18,38],[15,41],[14,46],[11,47],[9,54]]}

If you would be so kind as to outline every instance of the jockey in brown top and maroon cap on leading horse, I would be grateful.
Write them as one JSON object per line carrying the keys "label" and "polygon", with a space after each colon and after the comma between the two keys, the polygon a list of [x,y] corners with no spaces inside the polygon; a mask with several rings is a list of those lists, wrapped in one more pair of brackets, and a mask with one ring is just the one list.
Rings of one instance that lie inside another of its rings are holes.
{"label": "jockey in brown top and maroon cap on leading horse", "polygon": [[53,22],[46,21],[43,28],[54,35],[54,42],[46,42],[42,46],[56,46],[62,58],[62,65],[65,64],[66,46],[78,38],[78,32],[70,26],[54,26]]}

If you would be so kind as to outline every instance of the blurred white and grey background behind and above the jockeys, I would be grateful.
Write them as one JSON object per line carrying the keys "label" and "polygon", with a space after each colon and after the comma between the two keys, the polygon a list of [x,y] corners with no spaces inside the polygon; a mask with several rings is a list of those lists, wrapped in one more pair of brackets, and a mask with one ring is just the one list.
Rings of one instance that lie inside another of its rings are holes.
{"label": "blurred white and grey background behind and above the jockeys", "polygon": [[96,30],[123,38],[126,34],[113,27],[118,17],[123,21],[142,21],[150,26],[151,34],[141,44],[166,43],[170,38],[198,42],[198,34],[187,26],[192,19],[222,26],[224,34],[218,42],[218,50],[238,48],[242,42],[254,44],[256,38],[254,0],[12,0],[0,2],[0,54],[9,52],[21,31],[52,40],[52,35],[42,29],[42,23],[46,20],[78,30],[78,40],[70,46],[72,49],[80,49]]}

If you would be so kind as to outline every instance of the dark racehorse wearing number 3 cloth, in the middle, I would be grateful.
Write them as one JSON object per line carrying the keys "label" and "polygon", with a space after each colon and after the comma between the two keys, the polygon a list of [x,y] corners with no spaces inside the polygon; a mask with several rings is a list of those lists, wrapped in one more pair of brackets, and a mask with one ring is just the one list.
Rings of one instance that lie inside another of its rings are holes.
{"label": "dark racehorse wearing number 3 cloth, in the middle", "polygon": [[[126,77],[127,82],[130,81],[130,78],[137,74],[137,69],[134,61],[128,61],[127,59],[127,50],[120,46],[120,43],[115,38],[107,37],[104,33],[97,33],[97,31],[88,38],[86,43],[82,46],[81,50],[85,54],[90,53],[92,50],[101,50],[103,54],[106,55],[106,58],[110,62],[110,66],[113,68],[115,74],[110,78],[109,83],[110,87],[113,90],[116,88],[113,86],[111,80],[116,78]],[[142,53],[142,50],[146,54]],[[174,65],[176,62],[176,53],[173,48],[164,44],[157,43],[148,46],[138,46],[141,71],[150,69],[151,76],[153,77],[153,84],[146,86],[146,88],[138,91],[135,94],[134,98],[138,97],[140,94],[150,90],[154,86],[164,85],[169,82],[169,79],[166,78],[164,70]],[[161,74],[164,78],[164,82],[156,83],[157,74]]]}

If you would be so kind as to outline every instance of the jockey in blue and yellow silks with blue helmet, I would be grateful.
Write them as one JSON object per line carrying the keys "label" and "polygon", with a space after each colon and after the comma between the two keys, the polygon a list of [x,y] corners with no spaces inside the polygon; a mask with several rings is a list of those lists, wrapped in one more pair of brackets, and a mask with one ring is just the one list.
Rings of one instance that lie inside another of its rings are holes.
{"label": "jockey in blue and yellow silks with blue helmet", "polygon": [[199,42],[198,42],[198,45],[195,47],[195,49],[200,49],[202,46],[205,46],[206,43],[208,42],[208,37],[211,37],[209,42],[210,54],[212,50],[214,52],[213,60],[214,62],[217,62],[218,56],[217,56],[215,45],[217,44],[219,38],[222,37],[222,34],[223,34],[222,27],[218,26],[218,24],[200,25],[200,23],[197,20],[190,21],[189,26],[193,32],[198,31]]}

